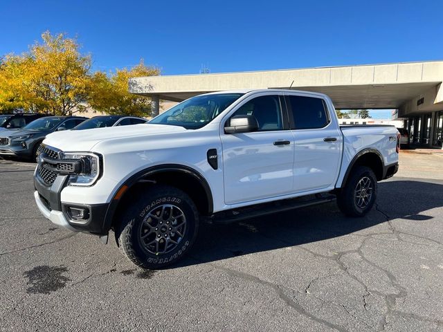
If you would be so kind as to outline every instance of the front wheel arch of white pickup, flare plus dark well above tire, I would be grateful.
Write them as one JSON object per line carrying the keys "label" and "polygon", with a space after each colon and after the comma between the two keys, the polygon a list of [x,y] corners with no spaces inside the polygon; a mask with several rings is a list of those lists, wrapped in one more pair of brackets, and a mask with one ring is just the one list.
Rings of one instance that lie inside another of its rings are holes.
{"label": "front wheel arch of white pickup, flare plus dark well above tire", "polygon": [[213,194],[204,176],[185,165],[157,165],[137,172],[118,187],[109,203],[103,221],[102,233],[109,232],[116,224],[119,212],[123,211],[125,203],[129,203],[131,199],[134,199],[134,195],[143,192],[147,186],[156,183],[172,185],[186,192],[197,205],[199,213],[204,215],[213,213]]}

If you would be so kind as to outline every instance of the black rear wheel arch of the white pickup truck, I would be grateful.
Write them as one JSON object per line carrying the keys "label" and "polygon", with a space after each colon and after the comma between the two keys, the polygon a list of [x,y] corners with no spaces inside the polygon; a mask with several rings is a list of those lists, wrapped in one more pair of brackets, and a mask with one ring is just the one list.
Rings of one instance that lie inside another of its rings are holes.
{"label": "black rear wheel arch of the white pickup truck", "polygon": [[345,176],[343,176],[343,181],[341,181],[340,187],[343,187],[346,184],[347,179],[352,173],[352,169],[360,165],[370,167],[372,172],[374,172],[377,181],[381,181],[385,177],[386,167],[384,165],[383,156],[381,156],[381,153],[377,149],[363,149],[356,154],[354,158],[352,158],[346,169]]}

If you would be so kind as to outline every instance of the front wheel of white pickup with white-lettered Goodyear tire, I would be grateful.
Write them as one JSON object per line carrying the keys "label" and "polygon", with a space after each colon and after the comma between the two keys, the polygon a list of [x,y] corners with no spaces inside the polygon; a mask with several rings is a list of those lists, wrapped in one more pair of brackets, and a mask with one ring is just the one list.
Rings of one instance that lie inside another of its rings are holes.
{"label": "front wheel of white pickup with white-lettered Goodyear tire", "polygon": [[199,214],[188,194],[154,185],[123,212],[117,236],[120,249],[132,263],[155,270],[182,259],[198,229]]}

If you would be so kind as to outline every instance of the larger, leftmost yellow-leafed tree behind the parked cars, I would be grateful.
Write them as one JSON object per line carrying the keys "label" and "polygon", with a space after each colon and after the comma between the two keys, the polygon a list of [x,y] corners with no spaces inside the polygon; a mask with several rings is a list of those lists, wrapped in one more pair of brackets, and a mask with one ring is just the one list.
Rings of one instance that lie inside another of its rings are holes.
{"label": "larger, leftmost yellow-leafed tree behind the parked cars", "polygon": [[55,115],[83,111],[91,89],[91,57],[75,39],[42,35],[23,55],[7,55],[0,66],[0,108]]}

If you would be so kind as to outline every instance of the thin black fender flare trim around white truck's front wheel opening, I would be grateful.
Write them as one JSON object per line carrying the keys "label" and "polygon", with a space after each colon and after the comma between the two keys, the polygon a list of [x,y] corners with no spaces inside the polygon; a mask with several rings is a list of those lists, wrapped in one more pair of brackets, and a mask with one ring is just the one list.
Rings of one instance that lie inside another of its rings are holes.
{"label": "thin black fender flare trim around white truck's front wheel opening", "polygon": [[120,190],[122,190],[122,188],[126,186],[125,189],[126,192],[136,183],[143,181],[147,176],[164,173],[164,172],[182,172],[183,174],[193,176],[197,181],[199,181],[199,183],[201,183],[206,193],[206,199],[208,200],[208,212],[209,214],[213,213],[214,210],[213,194],[210,190],[208,181],[206,181],[206,178],[204,178],[204,176],[202,176],[195,169],[185,165],[179,165],[179,164],[156,165],[152,167],[147,167],[146,169],[143,169],[140,172],[137,172],[136,174],[130,176],[129,178],[127,178],[127,180],[124,183],[120,185],[120,187],[118,187],[118,190],[116,190],[114,196],[109,202],[109,206],[107,208],[105,218],[103,220],[102,234],[107,234],[107,232],[109,232],[109,230],[111,229],[112,221],[114,219],[114,215],[116,214],[118,204],[120,203],[120,200],[124,196],[124,193],[123,195],[119,195]]}

